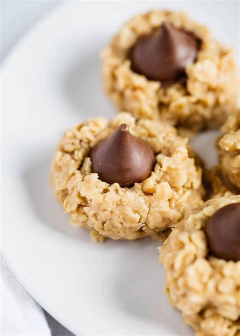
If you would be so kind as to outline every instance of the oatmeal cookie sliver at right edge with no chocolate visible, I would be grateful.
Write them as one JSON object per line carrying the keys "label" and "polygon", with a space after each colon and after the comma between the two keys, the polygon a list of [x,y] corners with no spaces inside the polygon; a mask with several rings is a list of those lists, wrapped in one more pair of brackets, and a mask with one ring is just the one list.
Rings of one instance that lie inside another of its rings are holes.
{"label": "oatmeal cookie sliver at right edge with no chocolate visible", "polygon": [[228,117],[222,130],[219,165],[210,175],[214,198],[240,194],[240,110]]}

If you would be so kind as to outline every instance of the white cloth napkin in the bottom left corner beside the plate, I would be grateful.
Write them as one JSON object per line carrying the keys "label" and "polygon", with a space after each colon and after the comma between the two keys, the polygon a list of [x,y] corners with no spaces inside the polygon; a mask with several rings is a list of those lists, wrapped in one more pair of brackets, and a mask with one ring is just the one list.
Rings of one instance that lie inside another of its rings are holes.
{"label": "white cloth napkin in the bottom left corner beside the plate", "polygon": [[2,255],[0,266],[1,335],[51,335],[43,309],[18,282]]}

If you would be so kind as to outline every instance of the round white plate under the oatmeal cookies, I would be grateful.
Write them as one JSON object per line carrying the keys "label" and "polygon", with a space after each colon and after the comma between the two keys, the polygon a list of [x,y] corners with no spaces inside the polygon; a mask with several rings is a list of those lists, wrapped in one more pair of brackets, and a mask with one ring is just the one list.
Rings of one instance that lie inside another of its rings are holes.
{"label": "round white plate under the oatmeal cookies", "polygon": [[[161,2],[187,10],[237,46],[236,6]],[[94,244],[88,231],[68,225],[49,186],[61,133],[87,117],[115,115],[102,93],[99,49],[131,15],[157,7],[60,6],[22,39],[3,67],[3,254],[36,301],[77,334],[192,334],[163,292],[157,242]],[[209,163],[215,159],[213,137],[210,132],[195,140]]]}

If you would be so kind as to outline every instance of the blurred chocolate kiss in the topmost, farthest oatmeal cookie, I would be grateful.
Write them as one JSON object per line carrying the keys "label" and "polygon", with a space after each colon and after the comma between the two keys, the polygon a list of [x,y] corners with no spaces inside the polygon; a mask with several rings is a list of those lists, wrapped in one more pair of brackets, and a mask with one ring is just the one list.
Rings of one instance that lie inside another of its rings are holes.
{"label": "blurred chocolate kiss in the topmost, farthest oatmeal cookie", "polygon": [[177,81],[196,59],[199,41],[193,34],[164,22],[140,36],[130,52],[133,71],[153,81]]}

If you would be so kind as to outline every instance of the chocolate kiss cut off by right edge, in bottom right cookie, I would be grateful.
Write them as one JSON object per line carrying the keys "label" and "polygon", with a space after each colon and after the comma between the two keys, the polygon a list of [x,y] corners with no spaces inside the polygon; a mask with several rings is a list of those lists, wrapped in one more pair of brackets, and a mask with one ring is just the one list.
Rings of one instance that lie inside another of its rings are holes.
{"label": "chocolate kiss cut off by right edge, in bottom right cookie", "polygon": [[206,234],[212,253],[225,260],[240,260],[240,203],[224,206],[210,217]]}

